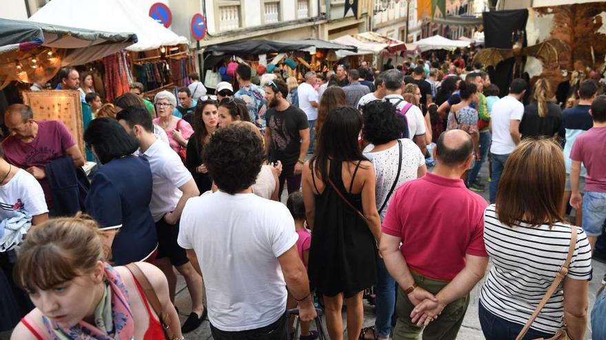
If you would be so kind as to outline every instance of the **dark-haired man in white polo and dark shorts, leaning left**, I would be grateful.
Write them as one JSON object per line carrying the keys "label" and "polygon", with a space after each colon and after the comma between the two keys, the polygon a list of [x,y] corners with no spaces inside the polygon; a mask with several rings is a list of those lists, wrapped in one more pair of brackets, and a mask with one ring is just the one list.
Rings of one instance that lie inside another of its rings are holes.
{"label": "dark-haired man in white polo and dark shorts, leaning left", "polygon": [[192,307],[191,314],[182,326],[182,332],[191,332],[205,318],[202,277],[189,262],[185,249],[179,247],[177,237],[185,202],[200,194],[198,186],[177,153],[154,135],[151,116],[145,107],[127,107],[116,115],[116,120],[139,141],[139,157],[145,157],[149,161],[153,181],[149,210],[158,233],[155,264],[167,277],[173,303],[177,284],[173,266],[185,277]]}

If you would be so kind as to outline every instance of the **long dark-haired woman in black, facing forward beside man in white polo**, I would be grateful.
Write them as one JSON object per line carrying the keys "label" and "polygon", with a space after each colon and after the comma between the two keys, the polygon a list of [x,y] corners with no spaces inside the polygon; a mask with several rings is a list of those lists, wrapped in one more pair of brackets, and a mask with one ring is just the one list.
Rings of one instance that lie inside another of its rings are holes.
{"label": "long dark-haired woman in black, facing forward beside man in white polo", "polygon": [[200,101],[194,109],[194,135],[191,135],[187,144],[185,166],[194,177],[200,193],[211,190],[213,184],[206,166],[202,163],[202,151],[217,129],[218,116],[215,100]]}

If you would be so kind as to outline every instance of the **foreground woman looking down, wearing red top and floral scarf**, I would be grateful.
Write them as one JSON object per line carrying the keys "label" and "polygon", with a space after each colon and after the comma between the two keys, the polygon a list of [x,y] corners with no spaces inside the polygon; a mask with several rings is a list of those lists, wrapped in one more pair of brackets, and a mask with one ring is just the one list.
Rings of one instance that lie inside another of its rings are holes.
{"label": "foreground woman looking down, wearing red top and floral scarf", "polygon": [[[106,242],[98,225],[81,216],[30,229],[14,277],[36,308],[11,339],[165,339],[154,308],[167,316],[162,321],[171,339],[184,339],[162,271],[144,262],[132,271],[112,267]],[[143,291],[146,286],[150,291]],[[152,307],[151,294],[159,306]]]}

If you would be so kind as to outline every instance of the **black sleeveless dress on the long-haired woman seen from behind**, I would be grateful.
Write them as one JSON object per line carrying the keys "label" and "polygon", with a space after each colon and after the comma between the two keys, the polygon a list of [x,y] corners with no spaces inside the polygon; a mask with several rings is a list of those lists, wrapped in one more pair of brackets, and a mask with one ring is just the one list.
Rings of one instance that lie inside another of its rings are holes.
{"label": "black sleeveless dress on the long-haired woman seen from behind", "polygon": [[[328,177],[362,212],[362,194],[349,193],[359,162],[349,190],[343,185],[341,164],[341,161],[331,161]],[[313,171],[311,173],[315,186]],[[330,183],[325,183],[322,194],[315,195],[313,225],[308,270],[312,288],[328,296],[343,293],[344,297],[353,297],[377,283],[375,238],[362,217],[344,203]]]}

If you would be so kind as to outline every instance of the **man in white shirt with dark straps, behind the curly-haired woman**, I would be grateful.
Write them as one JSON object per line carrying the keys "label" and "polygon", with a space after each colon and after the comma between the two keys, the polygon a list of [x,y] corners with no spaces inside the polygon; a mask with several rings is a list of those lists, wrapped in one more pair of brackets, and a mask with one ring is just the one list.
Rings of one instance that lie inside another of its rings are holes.
{"label": "man in white shirt with dark straps, behind the curly-haired woman", "polygon": [[416,105],[408,105],[406,112],[402,112],[408,102],[402,97],[402,83],[404,75],[397,69],[389,69],[381,73],[383,75],[383,84],[385,85],[385,97],[383,100],[396,106],[396,109],[406,115],[406,125],[408,126],[408,138],[415,141],[421,152],[425,155],[427,144],[425,142],[425,119],[421,109]]}

